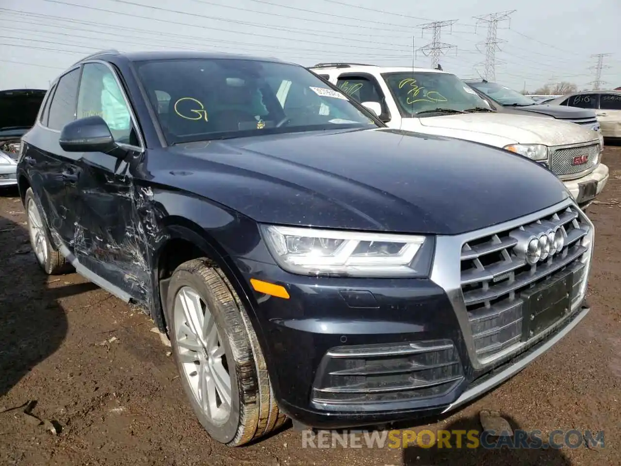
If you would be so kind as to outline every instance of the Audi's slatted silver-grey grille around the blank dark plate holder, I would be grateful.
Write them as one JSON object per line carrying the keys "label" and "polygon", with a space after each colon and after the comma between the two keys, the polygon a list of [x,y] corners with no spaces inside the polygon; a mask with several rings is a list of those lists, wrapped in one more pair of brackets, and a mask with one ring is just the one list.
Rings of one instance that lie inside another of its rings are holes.
{"label": "Audi's slatted silver-grey grille around the blank dark plate holder", "polygon": [[[561,252],[535,265],[528,265],[516,254],[514,247],[518,241],[511,236],[512,232],[543,232],[555,227],[563,229],[566,235]],[[590,229],[579,209],[570,205],[532,223],[469,239],[463,244],[461,291],[479,362],[488,363],[522,342],[524,301],[520,293],[573,272],[571,307],[578,306],[586,291]]]}

